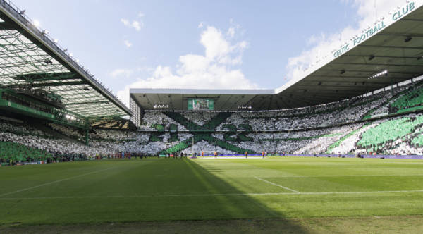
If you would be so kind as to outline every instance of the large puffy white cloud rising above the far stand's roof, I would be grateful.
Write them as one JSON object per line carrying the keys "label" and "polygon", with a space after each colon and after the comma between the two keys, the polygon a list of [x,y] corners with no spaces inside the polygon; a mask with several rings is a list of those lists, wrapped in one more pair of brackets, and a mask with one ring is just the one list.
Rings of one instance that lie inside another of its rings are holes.
{"label": "large puffy white cloud rising above the far stand's roof", "polygon": [[[236,33],[235,30],[233,32]],[[125,104],[129,102],[130,87],[140,88],[196,88],[196,89],[252,89],[255,83],[245,78],[242,70],[235,68],[242,63],[243,51],[248,43],[232,42],[216,27],[207,27],[201,33],[200,43],[204,54],[185,54],[173,70],[157,66],[149,78],[139,78],[118,91]]]}

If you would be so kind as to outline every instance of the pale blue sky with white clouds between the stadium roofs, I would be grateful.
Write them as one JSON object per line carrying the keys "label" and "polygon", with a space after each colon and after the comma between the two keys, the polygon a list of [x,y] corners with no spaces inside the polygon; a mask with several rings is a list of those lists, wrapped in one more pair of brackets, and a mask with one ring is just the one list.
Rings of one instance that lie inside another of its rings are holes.
{"label": "pale blue sky with white clouds between the stadium roofs", "polygon": [[405,0],[13,0],[113,90],[275,89]]}

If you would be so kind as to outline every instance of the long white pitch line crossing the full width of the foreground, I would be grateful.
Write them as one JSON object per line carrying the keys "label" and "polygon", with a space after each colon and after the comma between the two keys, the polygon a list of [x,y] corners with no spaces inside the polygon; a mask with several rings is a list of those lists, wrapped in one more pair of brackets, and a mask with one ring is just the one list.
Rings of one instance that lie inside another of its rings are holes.
{"label": "long white pitch line crossing the full width of the foreground", "polygon": [[391,192],[423,192],[423,190],[393,190],[393,191],[360,191],[360,192],[266,192],[266,193],[211,193],[190,195],[110,195],[110,196],[73,196],[73,197],[0,197],[0,200],[32,200],[32,199],[87,199],[87,198],[138,198],[138,197],[218,197],[218,196],[278,196],[278,195],[337,195],[337,194],[372,194]]}

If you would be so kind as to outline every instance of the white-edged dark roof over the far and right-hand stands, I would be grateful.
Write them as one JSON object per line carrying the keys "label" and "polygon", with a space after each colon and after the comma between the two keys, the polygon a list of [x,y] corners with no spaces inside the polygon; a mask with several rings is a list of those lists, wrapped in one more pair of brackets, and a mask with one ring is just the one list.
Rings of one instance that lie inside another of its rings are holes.
{"label": "white-edged dark roof over the far and right-hand stands", "polygon": [[302,74],[276,90],[130,89],[142,109],[186,110],[189,98],[214,99],[216,110],[252,106],[287,109],[357,97],[423,75],[423,1],[409,1],[340,42]]}

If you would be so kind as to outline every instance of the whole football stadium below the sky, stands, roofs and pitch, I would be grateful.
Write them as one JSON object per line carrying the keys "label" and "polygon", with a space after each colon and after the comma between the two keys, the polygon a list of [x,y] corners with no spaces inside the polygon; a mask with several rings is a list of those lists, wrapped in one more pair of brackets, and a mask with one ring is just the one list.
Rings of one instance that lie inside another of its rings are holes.
{"label": "whole football stadium below the sky, stands, roofs and pitch", "polygon": [[423,1],[401,4],[281,87],[126,106],[0,0],[0,233],[422,233]]}

